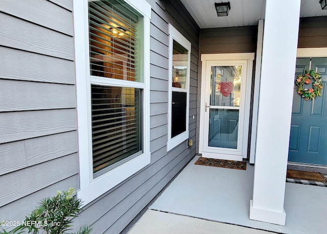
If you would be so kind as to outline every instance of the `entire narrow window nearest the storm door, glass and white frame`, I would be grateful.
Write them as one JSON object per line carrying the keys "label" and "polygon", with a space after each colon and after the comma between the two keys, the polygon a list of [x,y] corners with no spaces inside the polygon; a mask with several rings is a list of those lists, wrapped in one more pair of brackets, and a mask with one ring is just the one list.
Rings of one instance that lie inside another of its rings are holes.
{"label": "entire narrow window nearest the storm door, glass and white frame", "polygon": [[167,151],[189,138],[191,43],[169,25],[169,112]]}

